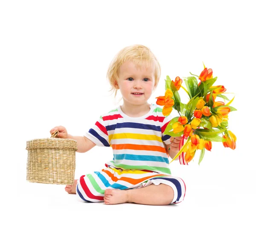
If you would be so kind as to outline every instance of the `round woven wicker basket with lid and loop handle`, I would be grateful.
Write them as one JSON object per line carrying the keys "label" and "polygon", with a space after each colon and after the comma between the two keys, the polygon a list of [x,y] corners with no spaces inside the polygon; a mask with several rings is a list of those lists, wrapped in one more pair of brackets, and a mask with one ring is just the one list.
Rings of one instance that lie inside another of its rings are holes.
{"label": "round woven wicker basket with lid and loop handle", "polygon": [[77,142],[74,139],[33,139],[26,142],[29,182],[43,184],[73,184],[76,170]]}

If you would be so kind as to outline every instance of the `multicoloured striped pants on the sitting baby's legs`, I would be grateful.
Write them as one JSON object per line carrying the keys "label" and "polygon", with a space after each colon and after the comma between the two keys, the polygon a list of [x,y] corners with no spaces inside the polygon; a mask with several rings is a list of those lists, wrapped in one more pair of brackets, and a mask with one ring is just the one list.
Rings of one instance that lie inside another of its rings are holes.
{"label": "multicoloured striped pants on the sitting baby's legs", "polygon": [[106,165],[105,169],[81,176],[76,194],[86,202],[103,202],[106,189],[139,189],[150,184],[167,184],[174,191],[174,204],[183,201],[186,185],[181,178],[149,170],[122,170]]}

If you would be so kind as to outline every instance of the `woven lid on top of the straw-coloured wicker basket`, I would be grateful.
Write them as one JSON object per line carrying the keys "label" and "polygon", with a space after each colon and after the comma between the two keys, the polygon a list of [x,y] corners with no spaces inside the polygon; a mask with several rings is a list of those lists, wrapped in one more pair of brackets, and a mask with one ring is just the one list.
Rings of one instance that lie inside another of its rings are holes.
{"label": "woven lid on top of the straw-coloured wicker basket", "polygon": [[74,139],[45,138],[32,139],[26,142],[26,150],[38,148],[73,149],[77,150],[77,141]]}

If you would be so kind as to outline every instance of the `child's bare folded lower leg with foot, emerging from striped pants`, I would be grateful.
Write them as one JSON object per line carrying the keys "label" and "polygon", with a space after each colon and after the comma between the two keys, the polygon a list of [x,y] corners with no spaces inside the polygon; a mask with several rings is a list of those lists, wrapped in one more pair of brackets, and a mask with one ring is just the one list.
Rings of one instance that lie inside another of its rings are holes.
{"label": "child's bare folded lower leg with foot, emerging from striped pants", "polygon": [[168,205],[174,198],[172,187],[166,184],[154,185],[132,190],[105,190],[105,204],[125,202],[144,205]]}

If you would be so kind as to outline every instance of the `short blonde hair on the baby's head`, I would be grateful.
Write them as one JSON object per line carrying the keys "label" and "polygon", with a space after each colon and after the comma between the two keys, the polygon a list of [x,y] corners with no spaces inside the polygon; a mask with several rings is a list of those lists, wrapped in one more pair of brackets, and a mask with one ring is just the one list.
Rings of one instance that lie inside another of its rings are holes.
{"label": "short blonde hair on the baby's head", "polygon": [[[118,74],[119,74],[119,69],[120,66],[125,62],[125,61],[131,61],[134,62],[134,65],[136,67],[146,67],[148,68],[150,65],[155,66],[155,72],[154,72],[154,78],[155,78],[155,84],[154,84],[154,89],[153,91],[157,88],[157,84],[160,79],[161,75],[161,68],[160,64],[157,60],[157,58],[154,56],[154,54],[151,52],[151,50],[144,46],[144,45],[131,45],[123,48],[121,51],[119,51],[116,56],[113,58],[111,61],[108,71],[107,71],[107,79],[110,82],[111,85],[111,90],[115,93],[117,93],[117,89],[115,88],[115,83],[118,83]],[[113,93],[112,92],[112,93]]]}

